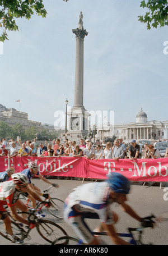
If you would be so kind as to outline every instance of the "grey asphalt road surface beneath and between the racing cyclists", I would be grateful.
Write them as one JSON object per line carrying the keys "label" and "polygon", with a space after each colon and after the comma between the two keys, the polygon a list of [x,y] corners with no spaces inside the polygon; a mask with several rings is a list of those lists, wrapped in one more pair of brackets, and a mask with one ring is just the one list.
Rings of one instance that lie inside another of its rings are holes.
{"label": "grey asphalt road surface beneath and between the racing cyclists", "polygon": [[[50,180],[52,182],[57,182],[59,184],[59,189],[52,193],[52,197],[57,197],[62,200],[66,199],[67,195],[78,185],[86,184],[90,181],[78,181],[78,180]],[[48,188],[48,184],[45,182],[34,179],[33,183],[41,190]],[[167,188],[168,191],[168,188]],[[139,214],[141,217],[150,215],[151,213],[158,216],[160,213],[168,211],[168,202],[164,200],[164,188],[160,189],[160,186],[142,186],[141,183],[133,183],[131,185],[131,191],[128,195],[128,204]],[[168,198],[168,196],[167,196]],[[127,227],[137,227],[138,222],[124,213],[118,204],[113,204],[113,211],[118,213],[119,222],[116,224],[117,232],[127,232]],[[60,226],[66,230],[68,235],[74,235],[73,230],[66,225],[64,221],[55,220],[53,216],[49,217],[52,221],[58,223]],[[91,228],[95,228],[97,221],[87,220],[87,223]],[[167,245],[168,244],[168,221],[159,223],[155,228],[146,228],[143,236],[143,241],[145,243],[152,243],[154,245]],[[106,237],[106,243],[111,243],[110,239]],[[0,237],[0,245],[11,245],[10,241]],[[40,237],[35,228],[31,231],[31,240],[25,241],[25,245],[47,245],[44,239]],[[12,244],[13,245],[13,244]]]}

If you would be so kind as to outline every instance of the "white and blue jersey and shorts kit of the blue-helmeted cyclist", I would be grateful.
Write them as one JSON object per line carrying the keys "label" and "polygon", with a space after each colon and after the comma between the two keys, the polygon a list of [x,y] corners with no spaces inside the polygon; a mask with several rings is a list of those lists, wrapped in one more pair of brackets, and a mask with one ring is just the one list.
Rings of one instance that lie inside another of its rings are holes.
{"label": "white and blue jersey and shorts kit of the blue-helmeted cyclist", "polygon": [[63,217],[85,243],[93,239],[85,218],[99,218],[107,225],[114,224],[110,211],[110,188],[107,182],[78,186],[68,195],[64,203]]}

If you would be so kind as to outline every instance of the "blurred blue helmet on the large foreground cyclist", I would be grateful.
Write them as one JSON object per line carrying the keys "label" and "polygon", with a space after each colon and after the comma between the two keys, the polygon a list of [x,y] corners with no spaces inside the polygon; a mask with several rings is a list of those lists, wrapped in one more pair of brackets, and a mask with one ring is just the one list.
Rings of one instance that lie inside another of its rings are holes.
{"label": "blurred blue helmet on the large foreground cyclist", "polygon": [[111,172],[108,176],[108,184],[110,189],[115,193],[128,194],[130,190],[129,180],[118,172]]}

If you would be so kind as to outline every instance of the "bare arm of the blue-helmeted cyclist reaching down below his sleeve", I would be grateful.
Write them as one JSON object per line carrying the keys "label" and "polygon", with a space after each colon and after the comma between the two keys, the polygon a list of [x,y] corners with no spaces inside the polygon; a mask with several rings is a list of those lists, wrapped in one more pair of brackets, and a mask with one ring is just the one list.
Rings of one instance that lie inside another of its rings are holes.
{"label": "bare arm of the blue-helmeted cyclist reaching down below his sleeve", "polygon": [[105,223],[101,223],[101,225],[104,228],[104,230],[106,230],[108,235],[111,237],[111,240],[114,242],[114,244],[116,244],[116,245],[129,245],[129,243],[124,241],[121,237],[119,237],[116,234],[115,228],[112,224],[107,225]]}

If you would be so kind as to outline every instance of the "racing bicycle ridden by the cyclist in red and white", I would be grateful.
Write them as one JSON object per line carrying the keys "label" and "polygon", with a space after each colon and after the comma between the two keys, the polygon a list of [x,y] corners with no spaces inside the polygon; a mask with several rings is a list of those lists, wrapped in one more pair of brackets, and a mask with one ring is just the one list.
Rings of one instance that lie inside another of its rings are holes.
{"label": "racing bicycle ridden by the cyclist in red and white", "polygon": [[[44,203],[45,201],[40,202],[36,206],[36,208],[29,209],[29,211],[27,212],[18,212],[18,214],[27,214],[28,221],[35,223],[35,227],[39,235],[43,237],[44,240],[52,244],[55,239],[58,239],[60,236],[67,235],[67,232],[55,222],[44,220],[43,218],[39,218],[38,216],[36,216],[37,209],[40,207],[41,204]],[[24,243],[24,240],[31,240],[30,232],[32,228],[30,228],[29,226],[24,227],[22,223],[18,223],[16,220],[13,220],[11,218],[11,227],[13,234],[19,237],[20,243]],[[6,230],[4,229],[2,220],[0,220],[0,235],[12,241],[12,237],[8,235]]]}

